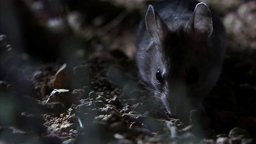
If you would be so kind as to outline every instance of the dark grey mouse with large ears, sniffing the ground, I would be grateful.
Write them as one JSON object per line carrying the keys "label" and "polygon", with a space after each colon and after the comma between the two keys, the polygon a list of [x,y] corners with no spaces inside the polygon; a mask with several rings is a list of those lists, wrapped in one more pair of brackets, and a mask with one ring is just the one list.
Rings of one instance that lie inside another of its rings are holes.
{"label": "dark grey mouse with large ears, sniffing the ground", "polygon": [[197,0],[148,6],[136,36],[141,81],[174,116],[202,110],[222,69],[226,33],[221,19]]}

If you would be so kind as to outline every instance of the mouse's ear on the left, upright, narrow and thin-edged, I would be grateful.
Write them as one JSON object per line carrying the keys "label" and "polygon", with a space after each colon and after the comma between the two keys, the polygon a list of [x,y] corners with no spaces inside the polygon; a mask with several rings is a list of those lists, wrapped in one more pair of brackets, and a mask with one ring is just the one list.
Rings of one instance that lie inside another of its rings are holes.
{"label": "mouse's ear on the left, upright, narrow and thin-edged", "polygon": [[165,22],[160,18],[152,5],[149,5],[145,16],[146,28],[149,35],[156,42],[163,42],[168,33],[168,28]]}

